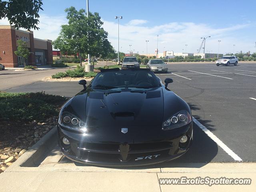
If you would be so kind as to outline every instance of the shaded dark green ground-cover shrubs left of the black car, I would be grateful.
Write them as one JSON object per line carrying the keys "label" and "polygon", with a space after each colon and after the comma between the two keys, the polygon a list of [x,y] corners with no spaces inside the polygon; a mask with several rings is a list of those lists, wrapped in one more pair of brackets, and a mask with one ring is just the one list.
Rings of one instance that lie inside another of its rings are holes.
{"label": "shaded dark green ground-cover shrubs left of the black car", "polygon": [[0,121],[45,120],[52,116],[58,116],[58,110],[65,101],[66,98],[62,96],[46,94],[45,92],[0,92]]}

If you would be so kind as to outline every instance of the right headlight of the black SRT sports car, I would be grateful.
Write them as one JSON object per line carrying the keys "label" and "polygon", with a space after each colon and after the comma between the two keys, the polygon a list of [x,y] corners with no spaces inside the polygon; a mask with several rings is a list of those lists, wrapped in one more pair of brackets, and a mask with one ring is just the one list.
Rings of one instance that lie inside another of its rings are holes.
{"label": "right headlight of the black SRT sports car", "polygon": [[172,130],[189,124],[192,121],[191,115],[182,110],[163,122],[162,130]]}

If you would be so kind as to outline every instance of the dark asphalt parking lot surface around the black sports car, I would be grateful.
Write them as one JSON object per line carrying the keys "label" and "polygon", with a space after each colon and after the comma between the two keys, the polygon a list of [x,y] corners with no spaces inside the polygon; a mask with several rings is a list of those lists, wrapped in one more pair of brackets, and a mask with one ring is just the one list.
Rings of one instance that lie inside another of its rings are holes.
{"label": "dark asphalt parking lot surface around the black sports car", "polygon": [[[194,116],[194,142],[181,158],[172,162],[256,161],[256,64],[168,64],[167,74],[156,74],[183,98]],[[41,82],[8,89],[73,96],[77,82]],[[69,162],[62,158],[61,162]],[[158,165],[168,167],[170,162]]]}

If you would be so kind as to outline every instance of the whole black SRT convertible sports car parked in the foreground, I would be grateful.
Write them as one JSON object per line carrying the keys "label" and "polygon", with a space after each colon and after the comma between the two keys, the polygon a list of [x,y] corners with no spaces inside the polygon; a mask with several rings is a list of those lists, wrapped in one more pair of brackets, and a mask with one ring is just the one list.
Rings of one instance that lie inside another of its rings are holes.
{"label": "whole black SRT convertible sports car parked in the foreground", "polygon": [[178,158],[193,140],[188,104],[148,69],[106,69],[68,100],[58,117],[64,156],[100,166],[138,166]]}

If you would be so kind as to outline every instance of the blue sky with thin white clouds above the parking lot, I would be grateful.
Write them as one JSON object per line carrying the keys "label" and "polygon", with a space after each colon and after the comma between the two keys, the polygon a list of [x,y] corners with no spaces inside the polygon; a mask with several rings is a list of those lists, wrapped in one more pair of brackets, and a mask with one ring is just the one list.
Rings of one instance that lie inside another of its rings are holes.
{"label": "blue sky with thin white clouds above the parking lot", "polygon": [[[35,38],[55,40],[62,24],[67,23],[65,8],[74,6],[86,10],[86,0],[43,0],[39,30]],[[206,40],[205,51],[220,53],[256,52],[255,0],[89,0],[90,12],[98,12],[108,32],[108,40],[118,50],[118,21],[120,48],[139,54],[158,50],[196,53]],[[0,20],[9,24],[8,20]],[[185,46],[187,45],[187,46]],[[235,46],[233,46],[235,45]],[[122,47],[122,48],[121,48]],[[183,50],[182,50],[183,49]],[[203,52],[203,49],[201,50]]]}

